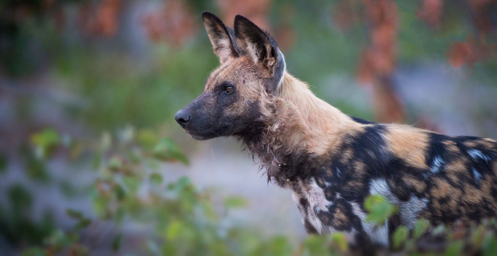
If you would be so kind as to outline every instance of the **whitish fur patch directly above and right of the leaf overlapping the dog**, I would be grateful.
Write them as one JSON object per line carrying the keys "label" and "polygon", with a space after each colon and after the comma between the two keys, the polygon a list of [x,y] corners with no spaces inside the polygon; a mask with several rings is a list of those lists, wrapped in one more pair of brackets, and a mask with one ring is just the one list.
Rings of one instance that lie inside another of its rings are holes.
{"label": "whitish fur patch directly above and right of the leaf overlapping the dog", "polygon": [[383,178],[371,180],[369,186],[369,192],[371,194],[384,196],[390,203],[399,208],[401,222],[408,228],[414,227],[419,212],[426,209],[426,205],[429,201],[427,198],[419,198],[413,194],[411,194],[409,200],[401,201],[392,193],[387,181]]}

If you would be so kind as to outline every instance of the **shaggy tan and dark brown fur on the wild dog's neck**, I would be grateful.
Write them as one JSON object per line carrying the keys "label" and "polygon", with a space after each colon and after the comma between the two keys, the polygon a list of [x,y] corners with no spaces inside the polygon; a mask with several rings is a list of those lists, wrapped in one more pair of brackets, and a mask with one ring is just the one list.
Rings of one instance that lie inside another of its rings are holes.
{"label": "shaggy tan and dark brown fur on the wild dog's neck", "polygon": [[299,166],[333,152],[338,138],[354,132],[357,123],[286,72],[275,94],[265,97],[260,124],[242,140],[266,168],[268,179],[283,186],[302,176]]}

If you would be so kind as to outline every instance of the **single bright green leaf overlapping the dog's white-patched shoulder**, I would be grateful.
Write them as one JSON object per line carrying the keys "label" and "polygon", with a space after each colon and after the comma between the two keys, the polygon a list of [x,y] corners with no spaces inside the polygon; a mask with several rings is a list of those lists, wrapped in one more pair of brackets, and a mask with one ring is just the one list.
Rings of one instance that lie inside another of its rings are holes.
{"label": "single bright green leaf overlapping the dog's white-patched shoulder", "polygon": [[370,195],[364,201],[364,208],[369,212],[367,222],[383,225],[397,211],[397,208],[380,195]]}

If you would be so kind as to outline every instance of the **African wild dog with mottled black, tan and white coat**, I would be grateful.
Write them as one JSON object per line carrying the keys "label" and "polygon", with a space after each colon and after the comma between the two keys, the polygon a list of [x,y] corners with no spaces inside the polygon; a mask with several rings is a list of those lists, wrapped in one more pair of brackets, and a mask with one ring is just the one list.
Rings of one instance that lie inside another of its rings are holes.
{"label": "African wild dog with mottled black, tan and white coat", "polygon": [[[286,72],[276,42],[237,15],[234,30],[202,19],[221,67],[176,115],[193,138],[235,136],[269,180],[293,191],[308,233],[342,231],[350,241],[388,245],[419,218],[472,223],[497,212],[497,142],[450,137],[343,114]],[[380,194],[399,209],[382,227],[363,202]]]}

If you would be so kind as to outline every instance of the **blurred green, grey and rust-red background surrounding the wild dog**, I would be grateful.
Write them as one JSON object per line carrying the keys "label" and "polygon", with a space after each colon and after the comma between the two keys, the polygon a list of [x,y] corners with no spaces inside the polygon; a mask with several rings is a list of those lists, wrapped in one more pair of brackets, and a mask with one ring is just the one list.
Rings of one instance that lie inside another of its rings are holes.
{"label": "blurred green, grey and rust-red background surrounding the wild dog", "polygon": [[1,252],[243,255],[305,238],[290,191],[239,143],[174,122],[219,65],[203,10],[269,31],[289,73],[349,115],[497,139],[495,0],[2,0]]}

